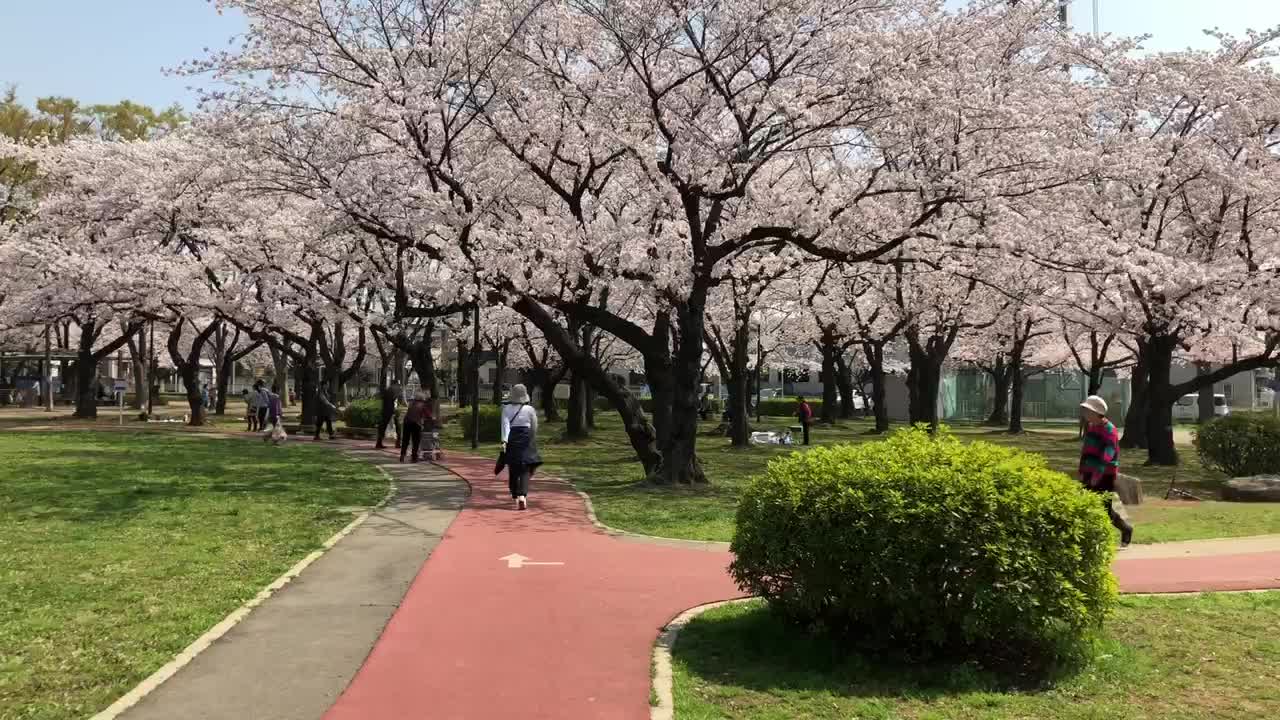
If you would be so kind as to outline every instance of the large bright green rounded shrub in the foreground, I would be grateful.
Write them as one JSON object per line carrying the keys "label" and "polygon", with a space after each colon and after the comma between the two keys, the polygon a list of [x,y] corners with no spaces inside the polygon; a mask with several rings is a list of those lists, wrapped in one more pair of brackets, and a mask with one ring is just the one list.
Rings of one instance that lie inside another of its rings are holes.
{"label": "large bright green rounded shrub in the foreground", "polygon": [[1038,455],[923,428],[774,460],[737,510],[739,585],[864,650],[1061,660],[1116,600],[1097,495]]}

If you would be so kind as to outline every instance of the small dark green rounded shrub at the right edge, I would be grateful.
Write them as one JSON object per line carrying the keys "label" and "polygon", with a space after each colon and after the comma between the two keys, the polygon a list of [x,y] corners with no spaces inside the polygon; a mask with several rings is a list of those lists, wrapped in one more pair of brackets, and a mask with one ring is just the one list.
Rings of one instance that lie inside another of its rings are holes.
{"label": "small dark green rounded shrub at the right edge", "polygon": [[1233,478],[1280,473],[1280,418],[1233,413],[1213,418],[1194,434],[1201,462]]}

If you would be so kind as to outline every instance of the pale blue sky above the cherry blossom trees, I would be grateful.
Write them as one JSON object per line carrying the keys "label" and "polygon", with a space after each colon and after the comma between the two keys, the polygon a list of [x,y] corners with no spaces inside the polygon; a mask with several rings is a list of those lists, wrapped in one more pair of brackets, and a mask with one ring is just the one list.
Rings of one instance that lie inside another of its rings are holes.
{"label": "pale blue sky above the cherry blossom trees", "polygon": [[[1156,50],[1207,47],[1201,29],[1208,27],[1239,33],[1280,24],[1280,0],[1098,1],[1103,32],[1153,35]],[[1089,29],[1092,0],[1074,0],[1071,15]],[[207,0],[0,0],[0,87],[18,85],[27,101],[69,95],[192,106],[188,78],[161,68],[224,47],[243,27],[242,17],[218,15]]]}

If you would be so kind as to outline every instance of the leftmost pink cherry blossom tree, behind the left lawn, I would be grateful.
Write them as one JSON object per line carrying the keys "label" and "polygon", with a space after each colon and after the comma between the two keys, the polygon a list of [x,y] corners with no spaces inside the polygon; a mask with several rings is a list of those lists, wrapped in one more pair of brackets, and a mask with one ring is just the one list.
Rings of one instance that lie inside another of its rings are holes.
{"label": "leftmost pink cherry blossom tree, behind the left lawn", "polygon": [[204,186],[170,173],[189,150],[179,138],[24,150],[49,191],[9,233],[5,305],[20,324],[78,328],[78,416],[97,414],[99,363],[204,284],[198,249],[183,233]]}

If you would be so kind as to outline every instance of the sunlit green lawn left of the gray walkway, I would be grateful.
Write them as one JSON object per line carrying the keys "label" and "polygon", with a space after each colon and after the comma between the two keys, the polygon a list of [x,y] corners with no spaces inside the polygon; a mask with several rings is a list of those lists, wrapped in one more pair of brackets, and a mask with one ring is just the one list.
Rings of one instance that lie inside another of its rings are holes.
{"label": "sunlit green lawn left of the gray walkway", "polygon": [[388,487],[329,448],[179,433],[13,432],[0,457],[4,720],[106,707]]}

